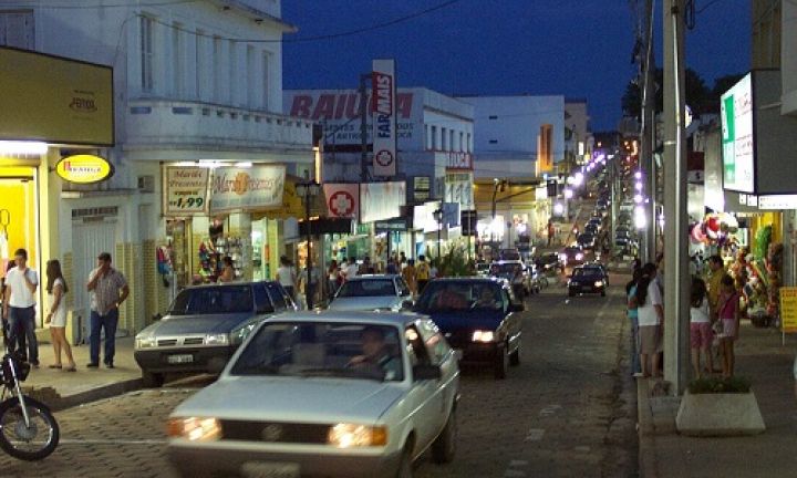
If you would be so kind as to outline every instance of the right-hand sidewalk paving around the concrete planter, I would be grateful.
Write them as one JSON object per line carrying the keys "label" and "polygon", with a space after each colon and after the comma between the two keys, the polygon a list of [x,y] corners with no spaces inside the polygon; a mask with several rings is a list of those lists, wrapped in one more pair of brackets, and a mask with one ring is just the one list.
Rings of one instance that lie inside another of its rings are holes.
{"label": "right-hand sidewalk paving around the concrete planter", "polygon": [[643,478],[785,477],[797,474],[797,398],[791,365],[797,337],[780,346],[776,329],[742,322],[737,375],[747,377],[766,432],[749,437],[694,438],[677,435],[677,397],[650,397],[638,381],[640,476]]}

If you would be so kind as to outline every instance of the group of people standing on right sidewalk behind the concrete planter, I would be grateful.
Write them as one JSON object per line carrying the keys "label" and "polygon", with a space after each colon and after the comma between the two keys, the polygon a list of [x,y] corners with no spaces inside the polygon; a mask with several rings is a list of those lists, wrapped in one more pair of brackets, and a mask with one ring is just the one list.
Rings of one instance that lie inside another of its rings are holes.
{"label": "group of people standing on right sidewalk behind the concrete planter", "polygon": [[[656,260],[661,264],[661,257]],[[664,301],[660,266],[649,262],[634,267],[625,285],[627,315],[631,321],[631,366],[634,376],[659,377],[663,356]],[[725,271],[720,256],[708,258],[707,281],[693,274],[690,297],[690,349],[695,377],[734,374],[734,343],[739,330],[739,293]],[[722,355],[722,370],[714,357]],[[702,366],[702,357],[705,366]]]}

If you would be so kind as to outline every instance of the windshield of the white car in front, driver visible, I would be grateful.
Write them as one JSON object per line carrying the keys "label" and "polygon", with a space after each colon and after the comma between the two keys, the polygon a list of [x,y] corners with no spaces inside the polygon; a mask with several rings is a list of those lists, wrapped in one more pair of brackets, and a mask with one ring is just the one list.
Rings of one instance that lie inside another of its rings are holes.
{"label": "windshield of the white car in front, driver visible", "polygon": [[398,332],[392,325],[267,322],[247,342],[230,374],[401,382]]}

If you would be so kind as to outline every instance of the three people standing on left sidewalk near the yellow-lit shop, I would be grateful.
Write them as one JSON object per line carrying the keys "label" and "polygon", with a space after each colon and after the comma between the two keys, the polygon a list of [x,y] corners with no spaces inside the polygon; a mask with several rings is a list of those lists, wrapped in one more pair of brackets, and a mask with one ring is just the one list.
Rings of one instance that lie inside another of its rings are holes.
{"label": "three people standing on left sidewalk near the yellow-lit shop", "polygon": [[[46,263],[48,309],[44,323],[50,328],[54,362],[49,368],[75,372],[72,349],[66,340],[66,300],[69,287],[61,271],[61,262],[52,259]],[[19,353],[34,368],[39,368],[39,342],[35,335],[37,291],[39,274],[28,266],[28,251],[18,249],[9,263],[0,288],[2,297],[2,326],[9,352]],[[103,362],[114,367],[115,335],[118,308],[127,299],[130,288],[122,272],[111,267],[111,254],[97,257],[97,267],[90,273],[86,290],[91,294],[91,334],[89,368],[100,366],[101,334],[105,333]],[[68,364],[63,365],[62,354]]]}

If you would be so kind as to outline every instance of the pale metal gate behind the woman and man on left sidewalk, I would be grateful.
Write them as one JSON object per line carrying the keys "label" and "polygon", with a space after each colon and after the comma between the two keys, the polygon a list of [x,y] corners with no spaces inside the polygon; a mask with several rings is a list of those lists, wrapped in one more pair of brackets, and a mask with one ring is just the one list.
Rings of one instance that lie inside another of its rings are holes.
{"label": "pale metal gate behind the woman and man on left sidewalk", "polygon": [[[115,208],[114,208],[115,209]],[[73,211],[73,219],[75,219]],[[73,320],[81,316],[82,342],[87,343],[91,316],[91,299],[85,288],[89,274],[96,268],[96,257],[101,252],[110,252],[113,259],[116,245],[116,220],[103,217],[83,217],[72,222],[72,252],[73,252],[73,290],[74,313]]]}

